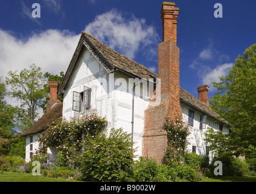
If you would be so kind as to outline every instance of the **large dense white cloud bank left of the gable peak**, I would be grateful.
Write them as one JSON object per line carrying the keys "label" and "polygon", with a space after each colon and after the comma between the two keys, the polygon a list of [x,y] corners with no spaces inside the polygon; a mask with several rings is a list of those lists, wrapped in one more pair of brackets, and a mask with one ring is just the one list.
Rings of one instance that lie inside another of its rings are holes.
{"label": "large dense white cloud bank left of the gable peak", "polygon": [[5,78],[9,70],[19,72],[33,63],[41,67],[42,72],[66,72],[78,39],[79,35],[68,30],[47,30],[32,33],[22,41],[0,29],[0,76]]}

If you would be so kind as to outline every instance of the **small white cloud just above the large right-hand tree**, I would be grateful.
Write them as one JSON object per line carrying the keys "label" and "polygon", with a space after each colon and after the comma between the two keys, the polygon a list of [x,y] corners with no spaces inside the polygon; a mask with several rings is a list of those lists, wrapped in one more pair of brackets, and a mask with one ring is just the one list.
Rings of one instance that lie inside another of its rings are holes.
{"label": "small white cloud just above the large right-hand tree", "polygon": [[215,88],[212,87],[212,82],[219,82],[219,77],[227,76],[227,73],[232,68],[232,65],[232,63],[225,63],[218,65],[215,69],[207,69],[207,71],[204,71],[203,75],[201,76],[203,83],[210,86],[209,90],[215,90]]}

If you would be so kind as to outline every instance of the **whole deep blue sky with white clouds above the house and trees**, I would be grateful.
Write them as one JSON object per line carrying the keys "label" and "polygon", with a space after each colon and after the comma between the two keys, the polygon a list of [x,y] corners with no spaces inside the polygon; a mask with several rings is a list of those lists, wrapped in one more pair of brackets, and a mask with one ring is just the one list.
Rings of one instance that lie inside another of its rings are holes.
{"label": "whole deep blue sky with white clouds above the house and trees", "polygon": [[[180,85],[197,87],[226,75],[238,55],[256,43],[255,0],[176,0]],[[33,18],[34,3],[41,18]],[[1,0],[0,76],[35,63],[42,72],[66,72],[84,30],[157,73],[162,25],[159,0]],[[214,5],[223,5],[215,18]],[[216,90],[212,87],[209,97]]]}

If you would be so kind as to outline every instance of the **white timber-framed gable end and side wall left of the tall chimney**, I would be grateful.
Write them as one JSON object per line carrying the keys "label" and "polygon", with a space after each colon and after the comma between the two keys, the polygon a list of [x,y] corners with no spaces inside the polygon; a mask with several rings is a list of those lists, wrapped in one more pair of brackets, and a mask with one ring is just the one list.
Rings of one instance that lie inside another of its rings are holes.
{"label": "white timber-framed gable end and side wall left of the tall chimney", "polygon": [[[100,116],[106,116],[108,129],[123,128],[132,133],[132,96],[133,79],[123,73],[107,73],[104,67],[84,49],[76,62],[63,96],[62,116],[66,119],[79,116],[81,112],[72,110],[73,91],[83,92],[84,86],[92,89],[91,107]],[[129,82],[130,81],[130,82]],[[141,90],[141,92],[138,91]],[[142,134],[144,130],[144,110],[149,105],[147,87],[143,84],[136,87],[134,100],[133,141],[137,147],[135,155],[142,155]]]}

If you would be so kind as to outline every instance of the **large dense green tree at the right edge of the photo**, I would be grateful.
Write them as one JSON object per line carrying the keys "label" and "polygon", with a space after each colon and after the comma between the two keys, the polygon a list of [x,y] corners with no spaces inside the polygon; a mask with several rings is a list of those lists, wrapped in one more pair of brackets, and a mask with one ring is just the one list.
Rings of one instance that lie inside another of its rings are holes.
{"label": "large dense green tree at the right edge of the photo", "polygon": [[234,153],[251,154],[256,150],[256,44],[238,56],[226,78],[213,82],[218,90],[211,108],[232,125],[229,145]]}

